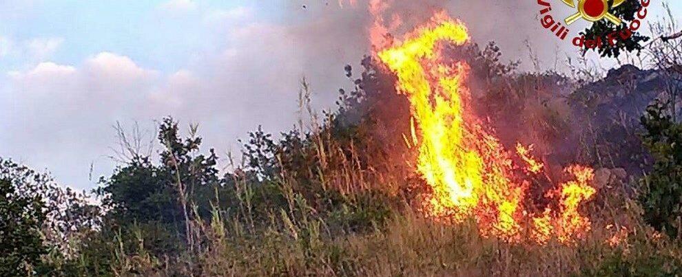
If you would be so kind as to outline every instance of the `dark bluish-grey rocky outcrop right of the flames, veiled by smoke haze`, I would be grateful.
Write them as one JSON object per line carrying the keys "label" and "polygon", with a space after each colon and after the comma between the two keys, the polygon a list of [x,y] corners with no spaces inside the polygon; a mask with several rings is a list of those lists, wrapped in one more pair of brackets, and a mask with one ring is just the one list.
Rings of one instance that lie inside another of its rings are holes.
{"label": "dark bluish-grey rocky outcrop right of the flames, veiled by smoke haze", "polygon": [[647,169],[650,157],[638,136],[640,120],[653,100],[667,98],[667,80],[660,71],[623,65],[572,93],[568,101],[578,126],[576,140],[589,146],[583,157],[634,175]]}

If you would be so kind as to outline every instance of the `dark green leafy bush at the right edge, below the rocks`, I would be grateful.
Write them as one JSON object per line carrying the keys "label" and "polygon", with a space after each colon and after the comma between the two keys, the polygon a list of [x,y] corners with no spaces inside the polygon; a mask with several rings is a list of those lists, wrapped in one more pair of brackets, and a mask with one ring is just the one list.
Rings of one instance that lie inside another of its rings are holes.
{"label": "dark green leafy bush at the right edge, below the rocks", "polygon": [[644,219],[672,237],[682,232],[682,124],[665,113],[665,104],[655,103],[642,117],[646,129],[643,143],[654,156],[652,171],[643,179],[641,195]]}

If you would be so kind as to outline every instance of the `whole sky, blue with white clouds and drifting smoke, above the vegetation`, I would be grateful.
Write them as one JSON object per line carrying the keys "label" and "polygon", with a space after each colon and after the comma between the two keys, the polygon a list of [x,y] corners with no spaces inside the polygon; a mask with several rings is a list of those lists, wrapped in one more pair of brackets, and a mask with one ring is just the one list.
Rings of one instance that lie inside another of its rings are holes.
{"label": "whole sky, blue with white clouds and drifting smoke, above the vegetation", "polygon": [[[391,2],[406,24],[444,9],[525,69],[526,41],[545,68],[576,52],[539,25],[534,1]],[[183,129],[198,123],[205,149],[238,153],[238,138],[259,125],[278,133],[295,124],[303,77],[317,109],[333,108],[338,89],[352,87],[343,67],[369,54],[372,19],[362,0],[341,4],[2,0],[0,157],[94,188],[116,166],[113,126],[138,124],[151,140],[166,115]],[[670,5],[682,14],[682,3]],[[652,7],[648,21],[663,14],[661,3]]]}

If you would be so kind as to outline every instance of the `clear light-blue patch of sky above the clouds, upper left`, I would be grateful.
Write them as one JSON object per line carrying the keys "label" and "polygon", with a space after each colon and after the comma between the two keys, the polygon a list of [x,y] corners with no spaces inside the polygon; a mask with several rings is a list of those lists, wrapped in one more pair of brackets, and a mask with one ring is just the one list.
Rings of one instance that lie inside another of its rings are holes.
{"label": "clear light-blue patch of sky above the clouds, upper left", "polygon": [[[249,2],[251,2],[249,4]],[[35,38],[61,41],[50,60],[79,63],[106,49],[128,56],[143,66],[173,71],[189,62],[190,54],[205,49],[209,30],[201,23],[206,13],[255,7],[254,1],[16,1],[0,4],[3,37],[15,43]],[[259,8],[259,21],[276,14]],[[26,56],[3,59],[0,69],[24,66]]]}

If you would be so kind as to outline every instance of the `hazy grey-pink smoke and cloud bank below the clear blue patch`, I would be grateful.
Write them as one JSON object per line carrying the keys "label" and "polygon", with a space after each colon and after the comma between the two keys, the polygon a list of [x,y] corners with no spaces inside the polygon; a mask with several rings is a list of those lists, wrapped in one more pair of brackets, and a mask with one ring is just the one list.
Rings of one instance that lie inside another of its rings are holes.
{"label": "hazy grey-pink smoke and cloud bank below the clear blue patch", "polygon": [[[352,86],[344,65],[357,68],[370,54],[373,17],[366,1],[344,8],[338,0],[258,0],[220,11],[184,6],[201,15],[196,24],[206,47],[188,53],[189,63],[171,74],[101,49],[74,65],[43,62],[0,77],[0,129],[11,130],[0,132],[0,155],[48,168],[67,185],[92,188],[114,166],[107,158],[116,146],[111,126],[137,121],[153,133],[154,120],[164,115],[174,115],[181,126],[198,122],[205,146],[218,153],[238,152],[236,140],[259,125],[273,133],[291,129],[304,76],[316,107],[333,109],[338,89]],[[183,5],[173,7],[179,16]],[[391,14],[403,20],[399,32],[446,10],[466,23],[475,42],[496,41],[504,58],[521,60],[524,69],[532,68],[526,41],[544,67],[576,53],[539,25],[535,1],[395,0],[389,7],[387,20]]]}

